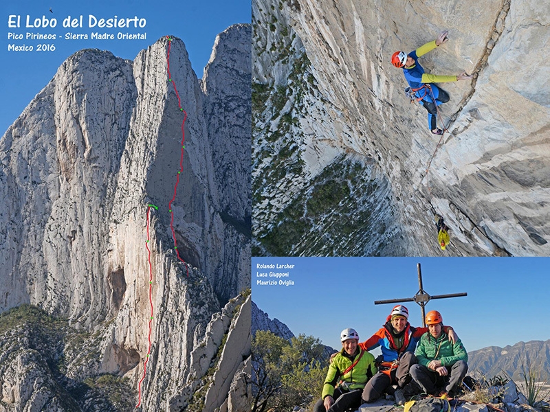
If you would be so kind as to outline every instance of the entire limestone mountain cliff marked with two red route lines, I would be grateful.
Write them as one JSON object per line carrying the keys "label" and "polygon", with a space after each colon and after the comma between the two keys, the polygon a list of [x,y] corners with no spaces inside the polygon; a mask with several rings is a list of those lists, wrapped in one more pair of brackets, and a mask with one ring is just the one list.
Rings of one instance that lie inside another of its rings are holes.
{"label": "entire limestone mountain cliff marked with two red route lines", "polygon": [[[223,345],[232,322],[243,330],[248,319],[250,330],[250,306],[248,316],[232,312],[250,286],[245,147],[250,153],[250,25],[219,35],[203,81],[177,38],[161,38],[133,62],[78,52],[10,126],[0,140],[0,312],[30,303],[68,319],[71,336],[81,333],[80,353],[54,347],[63,356],[37,375],[73,402],[55,410],[124,410],[102,392],[122,378],[137,404],[146,359],[142,410],[203,400],[197,380],[221,353],[212,345]],[[205,369],[192,354],[206,330]],[[250,355],[243,342],[224,369],[229,383]],[[23,410],[52,399],[23,374],[17,359],[28,349],[13,347],[0,376],[4,401]],[[91,398],[80,396],[84,380],[96,388]]]}

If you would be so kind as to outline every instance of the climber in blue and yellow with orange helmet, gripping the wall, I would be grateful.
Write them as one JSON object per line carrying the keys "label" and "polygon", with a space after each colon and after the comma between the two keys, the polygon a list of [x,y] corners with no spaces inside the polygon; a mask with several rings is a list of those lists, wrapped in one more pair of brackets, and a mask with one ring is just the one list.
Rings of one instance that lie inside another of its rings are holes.
{"label": "climber in blue and yellow with orange helmet, gripping the wall", "polygon": [[[434,40],[413,50],[409,54],[395,52],[391,56],[391,62],[395,67],[403,69],[405,78],[414,93],[418,102],[422,102],[428,111],[428,127],[434,135],[443,135],[443,130],[437,127],[437,106],[449,101],[449,95],[443,89],[439,89],[434,82],[456,82],[457,80],[469,80],[472,78],[465,71],[459,76],[440,76],[437,74],[424,73],[423,67],[419,64],[418,58],[432,51],[448,40],[447,31],[443,31]],[[426,84],[428,83],[428,84]]]}

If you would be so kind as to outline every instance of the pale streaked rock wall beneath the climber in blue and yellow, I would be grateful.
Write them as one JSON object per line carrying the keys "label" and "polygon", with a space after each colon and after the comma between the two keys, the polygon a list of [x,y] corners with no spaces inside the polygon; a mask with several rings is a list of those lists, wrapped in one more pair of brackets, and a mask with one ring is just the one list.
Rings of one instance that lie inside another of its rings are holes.
{"label": "pale streaked rock wall beneath the climber in blue and yellow", "polygon": [[[258,3],[274,13],[269,1]],[[495,0],[472,13],[478,4],[468,1],[283,3],[283,23],[303,43],[327,108],[316,121],[331,133],[316,139],[373,159],[388,180],[387,207],[403,237],[392,255],[441,255],[436,212],[451,229],[445,255],[549,255],[550,84],[540,50],[550,36],[541,7]],[[283,37],[285,27],[272,37]],[[449,41],[421,64],[428,73],[468,71],[474,79],[441,84],[451,97],[440,108],[450,133],[436,150],[439,137],[429,132],[425,109],[408,102],[406,80],[390,58],[444,29]],[[265,83],[277,62],[261,60],[254,76]]]}

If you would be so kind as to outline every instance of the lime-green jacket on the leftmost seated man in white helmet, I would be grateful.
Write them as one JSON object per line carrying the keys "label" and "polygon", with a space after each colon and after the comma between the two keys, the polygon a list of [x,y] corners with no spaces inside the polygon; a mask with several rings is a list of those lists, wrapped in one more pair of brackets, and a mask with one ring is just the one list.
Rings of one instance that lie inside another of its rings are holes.
{"label": "lime-green jacket on the leftmost seated man in white helmet", "polygon": [[[374,356],[369,354],[358,347],[358,354],[353,358],[353,361],[347,356],[344,355],[344,350],[342,349],[339,354],[334,356],[331,364],[329,365],[329,373],[325,379],[325,385],[322,387],[322,399],[325,399],[327,396],[333,396],[334,388],[338,386],[338,382],[343,380],[344,382],[349,382],[349,390],[353,389],[363,389],[366,385],[366,382],[376,374],[377,369],[374,361]],[[361,352],[364,352],[363,356],[349,371],[347,374],[340,376],[343,371],[348,369],[355,359],[357,359]]]}

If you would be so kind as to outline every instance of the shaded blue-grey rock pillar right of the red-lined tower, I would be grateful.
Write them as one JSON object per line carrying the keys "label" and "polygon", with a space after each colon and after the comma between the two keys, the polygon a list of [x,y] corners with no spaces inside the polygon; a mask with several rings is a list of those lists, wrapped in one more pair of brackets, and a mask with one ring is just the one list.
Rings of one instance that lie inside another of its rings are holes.
{"label": "shaded blue-grey rock pillar right of the red-lined tower", "polygon": [[[201,82],[203,113],[210,145],[219,216],[225,226],[223,248],[212,248],[212,284],[222,300],[250,285],[250,25],[220,33]],[[239,185],[228,182],[237,181]],[[214,255],[217,253],[217,255]],[[234,268],[227,271],[227,262]],[[208,262],[205,262],[206,264]],[[230,287],[230,285],[234,285]],[[235,287],[236,286],[236,287]]]}

